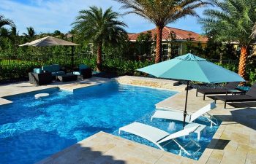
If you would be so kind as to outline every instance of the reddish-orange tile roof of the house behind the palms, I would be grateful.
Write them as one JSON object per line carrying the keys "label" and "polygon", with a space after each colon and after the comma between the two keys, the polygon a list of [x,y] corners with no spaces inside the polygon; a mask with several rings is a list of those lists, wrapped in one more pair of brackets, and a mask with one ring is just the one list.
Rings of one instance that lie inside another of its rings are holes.
{"label": "reddish-orange tile roof of the house behind the palms", "polygon": [[[154,38],[154,35],[157,33],[157,29],[154,28],[154,29],[148,30],[148,31],[151,31],[152,38]],[[167,27],[167,26],[165,26],[165,28],[162,30],[162,39],[163,40],[169,39],[169,35],[171,32],[174,32],[176,34],[177,40],[187,40],[190,38],[190,39],[192,39],[192,41],[196,41],[196,42],[207,42],[208,41],[208,38],[206,36],[202,36],[200,34],[192,32],[192,31],[186,31],[186,30],[181,30],[178,28],[171,28],[171,27]],[[147,33],[147,31],[143,31],[141,33]],[[137,40],[139,35],[140,35],[140,33],[138,33],[138,34],[130,33],[130,34],[128,34],[129,40],[135,41],[135,40]]]}

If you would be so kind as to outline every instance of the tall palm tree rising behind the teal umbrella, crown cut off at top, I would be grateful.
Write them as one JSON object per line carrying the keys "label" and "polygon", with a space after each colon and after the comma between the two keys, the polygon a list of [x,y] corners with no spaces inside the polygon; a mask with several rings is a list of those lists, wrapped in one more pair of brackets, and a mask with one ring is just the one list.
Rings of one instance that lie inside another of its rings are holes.
{"label": "tall palm tree rising behind the teal umbrella, crown cut off at top", "polygon": [[135,13],[157,26],[157,49],[155,63],[161,61],[162,55],[162,29],[186,15],[197,15],[195,9],[203,7],[207,2],[201,0],[116,0],[124,4],[122,8],[132,9]]}

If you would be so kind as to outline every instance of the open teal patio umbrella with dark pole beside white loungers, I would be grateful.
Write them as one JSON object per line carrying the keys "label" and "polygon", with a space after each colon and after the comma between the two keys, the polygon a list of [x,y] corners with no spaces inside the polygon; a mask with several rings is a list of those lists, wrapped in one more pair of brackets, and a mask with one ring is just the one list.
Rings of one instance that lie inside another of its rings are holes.
{"label": "open teal patio umbrella with dark pole beside white loungers", "polygon": [[[171,60],[146,66],[138,71],[151,74],[155,77],[166,79],[181,79],[187,81],[187,95],[189,81],[221,83],[221,82],[245,82],[245,80],[233,71],[224,69],[204,58],[188,53]],[[187,95],[184,109],[184,122],[187,116]]]}

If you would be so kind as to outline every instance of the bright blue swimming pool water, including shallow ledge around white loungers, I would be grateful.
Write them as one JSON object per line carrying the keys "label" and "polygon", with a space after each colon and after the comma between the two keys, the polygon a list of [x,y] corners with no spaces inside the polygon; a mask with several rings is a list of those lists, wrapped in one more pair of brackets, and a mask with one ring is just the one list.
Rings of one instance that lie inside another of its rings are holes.
{"label": "bright blue swimming pool water, including shallow ledge around white loungers", "polygon": [[[150,122],[154,104],[175,94],[167,90],[110,82],[74,93],[57,89],[39,93],[50,93],[50,96],[35,99],[35,93],[15,95],[7,98],[13,104],[0,106],[0,163],[34,163],[101,130],[118,135],[118,128],[134,121],[170,133],[181,129],[181,122],[176,122],[176,128],[171,130],[167,128],[167,120]],[[207,128],[200,141],[203,149],[216,130],[217,127]],[[155,147],[127,133],[121,137]],[[174,144],[165,148],[178,154]],[[198,159],[203,149],[191,158]],[[195,150],[191,147],[189,151]]]}

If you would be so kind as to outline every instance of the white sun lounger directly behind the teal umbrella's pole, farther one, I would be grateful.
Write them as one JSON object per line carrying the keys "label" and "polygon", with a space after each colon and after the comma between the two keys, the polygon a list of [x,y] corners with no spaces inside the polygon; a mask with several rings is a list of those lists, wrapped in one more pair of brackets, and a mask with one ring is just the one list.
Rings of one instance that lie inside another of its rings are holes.
{"label": "white sun lounger directly behind the teal umbrella's pole, farther one", "polygon": [[[199,109],[197,112],[195,112],[193,114],[187,114],[185,121],[190,123],[190,122],[195,121],[198,117],[205,117],[209,122],[211,122],[211,127],[212,127],[212,125],[217,125],[217,123],[218,123],[217,119],[214,118],[211,114],[208,114],[208,112],[214,108],[216,108],[216,104],[214,102],[212,102],[211,104],[204,106],[203,108]],[[151,121],[154,118],[183,121],[184,113],[170,111],[170,110],[169,111],[157,110],[151,116]],[[216,122],[214,122],[213,120],[215,120]]]}

